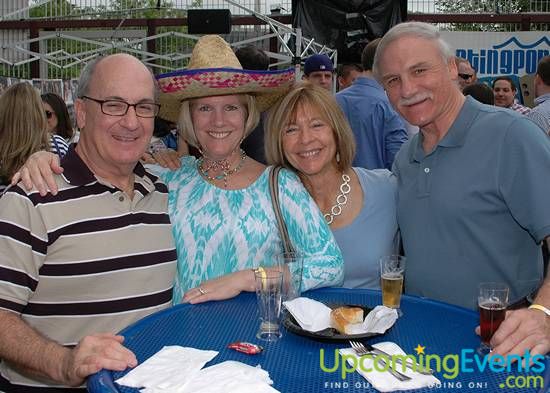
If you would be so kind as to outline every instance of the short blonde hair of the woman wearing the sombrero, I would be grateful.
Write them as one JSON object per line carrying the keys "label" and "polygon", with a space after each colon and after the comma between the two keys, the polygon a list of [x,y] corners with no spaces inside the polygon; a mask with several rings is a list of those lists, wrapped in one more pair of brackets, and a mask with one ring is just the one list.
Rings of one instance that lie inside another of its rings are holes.
{"label": "short blonde hair of the woman wearing the sombrero", "polygon": [[[243,139],[246,138],[254,128],[258,125],[260,121],[260,112],[258,111],[258,106],[256,105],[256,98],[250,94],[235,94],[239,97],[239,101],[245,107],[245,123],[244,123],[244,134]],[[193,101],[200,98],[192,98],[185,100],[181,103],[180,116],[178,119],[178,126],[180,129],[180,138],[183,138],[185,142],[200,148],[199,141],[195,134],[195,127],[193,126],[193,116],[191,115],[191,105]]]}

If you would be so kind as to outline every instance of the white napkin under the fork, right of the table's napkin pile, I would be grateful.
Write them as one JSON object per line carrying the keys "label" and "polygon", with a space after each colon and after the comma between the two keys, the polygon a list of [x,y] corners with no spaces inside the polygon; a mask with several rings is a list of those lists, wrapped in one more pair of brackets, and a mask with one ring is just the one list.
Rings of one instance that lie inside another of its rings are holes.
{"label": "white napkin under the fork, right of the table's napkin pile", "polygon": [[[406,355],[406,353],[393,342],[383,342],[374,344],[373,347],[378,348],[384,352],[387,352],[391,355]],[[355,355],[355,352],[351,348],[340,349],[340,354],[342,355],[351,355],[355,356],[357,359],[356,364],[359,365],[358,356]],[[347,362],[350,365],[353,365],[353,359],[347,358]],[[407,368],[406,371],[402,371],[401,365],[398,365],[396,369],[405,375],[411,377],[409,381],[400,381],[391,375],[387,371],[377,371],[374,368],[374,359],[365,358],[362,361],[363,367],[357,367],[357,372],[361,374],[370,384],[380,392],[393,392],[396,390],[409,390],[409,389],[420,389],[427,386],[435,386],[439,384],[439,379],[433,375],[424,375],[412,371]],[[391,364],[390,364],[391,366]],[[369,371],[366,371],[369,370]]]}

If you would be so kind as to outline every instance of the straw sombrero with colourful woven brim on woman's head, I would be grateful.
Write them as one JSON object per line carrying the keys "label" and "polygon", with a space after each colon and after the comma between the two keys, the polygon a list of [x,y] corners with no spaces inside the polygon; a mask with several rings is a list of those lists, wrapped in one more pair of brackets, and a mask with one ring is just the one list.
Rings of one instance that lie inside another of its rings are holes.
{"label": "straw sombrero with colourful woven brim on woman's head", "polygon": [[250,93],[260,112],[267,110],[294,83],[294,69],[243,70],[233,50],[217,35],[201,37],[185,70],[156,76],[160,87],[159,116],[177,122],[181,102],[190,98]]}

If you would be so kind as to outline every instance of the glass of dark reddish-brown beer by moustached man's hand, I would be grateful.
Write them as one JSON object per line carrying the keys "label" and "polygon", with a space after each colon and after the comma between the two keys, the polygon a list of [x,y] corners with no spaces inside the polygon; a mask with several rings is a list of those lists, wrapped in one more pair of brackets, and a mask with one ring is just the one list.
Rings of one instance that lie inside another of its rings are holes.
{"label": "glass of dark reddish-brown beer by moustached man's hand", "polygon": [[491,338],[506,317],[510,288],[500,282],[482,282],[479,284],[477,305],[479,308],[479,330],[481,345],[478,352],[491,352]]}

